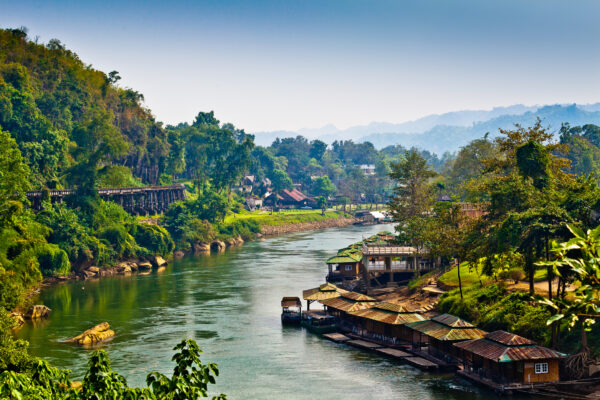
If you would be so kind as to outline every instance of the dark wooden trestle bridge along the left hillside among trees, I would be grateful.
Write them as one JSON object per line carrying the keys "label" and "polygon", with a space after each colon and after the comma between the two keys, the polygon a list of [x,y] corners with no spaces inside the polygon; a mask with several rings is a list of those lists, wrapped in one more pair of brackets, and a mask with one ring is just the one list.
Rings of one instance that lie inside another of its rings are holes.
{"label": "dark wooden trestle bridge along the left hillside among trees", "polygon": [[[52,203],[63,203],[67,196],[75,193],[74,189],[50,190]],[[27,192],[31,208],[40,210],[44,199],[41,190]],[[184,185],[147,186],[114,189],[98,189],[98,195],[105,201],[119,204],[125,211],[133,215],[152,215],[162,213],[171,203],[185,199]]]}

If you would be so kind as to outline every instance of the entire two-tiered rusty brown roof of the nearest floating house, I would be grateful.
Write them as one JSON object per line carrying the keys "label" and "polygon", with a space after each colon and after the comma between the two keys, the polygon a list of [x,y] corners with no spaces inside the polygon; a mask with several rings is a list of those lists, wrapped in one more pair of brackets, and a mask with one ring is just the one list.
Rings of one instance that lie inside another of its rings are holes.
{"label": "entire two-tiered rusty brown roof of the nearest floating house", "polygon": [[[513,344],[505,344],[497,340]],[[495,362],[564,357],[564,354],[558,351],[538,346],[529,339],[504,331],[488,333],[481,339],[454,343],[454,346]]]}

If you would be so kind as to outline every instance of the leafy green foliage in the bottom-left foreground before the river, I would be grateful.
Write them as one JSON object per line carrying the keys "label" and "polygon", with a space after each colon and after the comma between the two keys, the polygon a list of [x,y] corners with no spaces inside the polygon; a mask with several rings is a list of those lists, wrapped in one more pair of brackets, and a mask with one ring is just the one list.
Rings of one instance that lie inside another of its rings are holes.
{"label": "leafy green foliage in the bottom-left foreground before the river", "polygon": [[[208,397],[209,385],[214,384],[219,375],[217,365],[202,363],[202,351],[194,340],[183,340],[173,350],[176,351],[173,375],[169,378],[151,372],[146,378],[147,388],[129,387],[127,380],[112,370],[106,352],[98,350],[92,354],[80,386],[69,380],[69,371],[52,367],[46,361],[34,360],[24,372],[6,369],[0,373],[0,398],[186,400]],[[220,394],[213,399],[226,399],[226,396]]]}

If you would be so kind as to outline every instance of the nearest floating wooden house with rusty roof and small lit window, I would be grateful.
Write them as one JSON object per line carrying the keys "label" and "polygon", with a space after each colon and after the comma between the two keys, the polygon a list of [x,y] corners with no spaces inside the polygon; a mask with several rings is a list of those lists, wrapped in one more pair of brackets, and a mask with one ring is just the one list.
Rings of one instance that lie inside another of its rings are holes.
{"label": "nearest floating wooden house with rusty roof and small lit window", "polygon": [[503,385],[558,381],[558,364],[564,356],[504,331],[456,343],[454,347],[463,362],[463,375]]}

